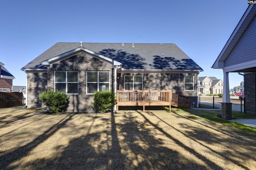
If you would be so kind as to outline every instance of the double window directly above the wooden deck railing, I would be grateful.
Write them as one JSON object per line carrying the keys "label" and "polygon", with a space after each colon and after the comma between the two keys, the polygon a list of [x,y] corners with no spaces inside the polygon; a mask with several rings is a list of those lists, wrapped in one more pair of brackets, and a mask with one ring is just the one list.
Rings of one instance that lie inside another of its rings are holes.
{"label": "double window directly above the wooden deck railing", "polygon": [[124,90],[142,90],[142,75],[125,75]]}

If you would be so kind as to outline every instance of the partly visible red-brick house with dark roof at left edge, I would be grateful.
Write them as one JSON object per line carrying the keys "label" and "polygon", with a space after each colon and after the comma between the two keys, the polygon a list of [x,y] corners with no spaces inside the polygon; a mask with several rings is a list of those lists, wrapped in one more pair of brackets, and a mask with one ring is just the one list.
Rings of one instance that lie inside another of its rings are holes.
{"label": "partly visible red-brick house with dark roof at left edge", "polygon": [[0,62],[0,92],[12,91],[12,80],[15,77],[4,67],[4,63]]}

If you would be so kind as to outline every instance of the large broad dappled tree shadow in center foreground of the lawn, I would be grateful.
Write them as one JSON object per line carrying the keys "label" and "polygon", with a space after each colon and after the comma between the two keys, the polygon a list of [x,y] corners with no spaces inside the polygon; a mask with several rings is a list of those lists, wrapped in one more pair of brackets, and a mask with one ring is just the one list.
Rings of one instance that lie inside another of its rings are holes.
{"label": "large broad dappled tree shadow in center foreground of the lawn", "polygon": [[88,131],[72,139],[66,147],[57,146],[56,152],[62,152],[54,158],[37,159],[24,166],[32,169],[207,169],[165,147],[163,139],[156,137],[151,129],[157,127],[142,114],[126,112],[100,120],[110,126],[100,132]]}

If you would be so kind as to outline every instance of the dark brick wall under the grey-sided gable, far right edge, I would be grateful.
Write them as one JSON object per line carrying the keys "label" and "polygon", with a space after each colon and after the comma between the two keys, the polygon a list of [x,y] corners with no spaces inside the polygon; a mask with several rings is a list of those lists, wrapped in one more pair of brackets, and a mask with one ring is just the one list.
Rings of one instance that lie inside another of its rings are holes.
{"label": "dark brick wall under the grey-sided gable, far right edge", "polygon": [[245,112],[256,115],[256,73],[244,74]]}

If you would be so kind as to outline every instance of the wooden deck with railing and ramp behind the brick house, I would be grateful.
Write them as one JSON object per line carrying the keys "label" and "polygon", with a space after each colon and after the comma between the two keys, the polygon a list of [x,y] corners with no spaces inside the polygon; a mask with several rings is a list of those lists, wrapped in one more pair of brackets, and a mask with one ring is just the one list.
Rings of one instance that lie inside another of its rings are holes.
{"label": "wooden deck with railing and ramp behind the brick house", "polygon": [[189,98],[176,94],[172,94],[172,90],[138,90],[124,91],[117,90],[117,112],[118,106],[169,106],[171,105],[182,108],[189,108]]}

